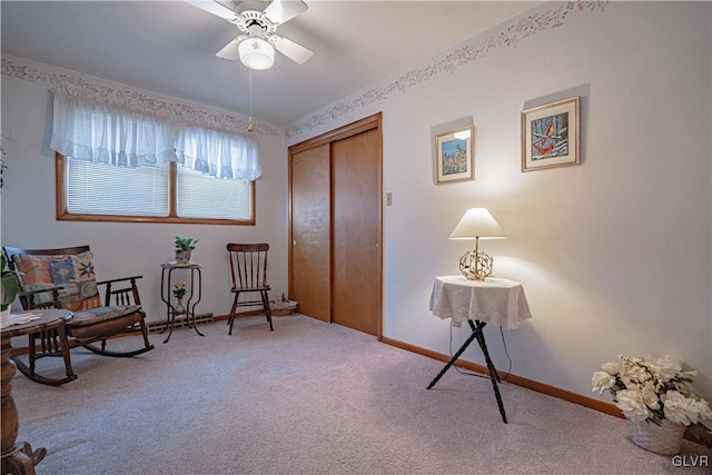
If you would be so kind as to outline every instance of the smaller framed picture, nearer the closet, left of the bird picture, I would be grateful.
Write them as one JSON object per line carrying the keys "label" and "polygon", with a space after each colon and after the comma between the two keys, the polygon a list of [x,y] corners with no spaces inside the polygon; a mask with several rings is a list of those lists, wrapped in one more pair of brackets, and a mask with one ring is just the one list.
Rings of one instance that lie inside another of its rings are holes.
{"label": "smaller framed picture, nearer the closet, left of the bird picture", "polygon": [[435,136],[435,182],[473,180],[474,156],[472,142],[475,128],[463,127]]}

